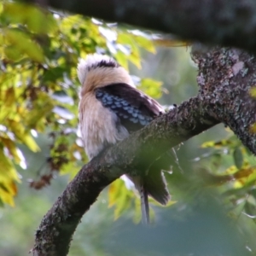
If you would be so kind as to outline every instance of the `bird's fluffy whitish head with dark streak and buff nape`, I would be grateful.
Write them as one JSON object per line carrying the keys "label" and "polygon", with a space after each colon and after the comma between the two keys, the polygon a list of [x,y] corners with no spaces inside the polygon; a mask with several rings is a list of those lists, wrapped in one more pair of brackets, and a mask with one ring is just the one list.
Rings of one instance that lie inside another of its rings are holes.
{"label": "bird's fluffy whitish head with dark streak and buff nape", "polygon": [[125,83],[134,86],[125,68],[108,55],[87,55],[79,61],[78,76],[82,84],[81,96],[109,84]]}

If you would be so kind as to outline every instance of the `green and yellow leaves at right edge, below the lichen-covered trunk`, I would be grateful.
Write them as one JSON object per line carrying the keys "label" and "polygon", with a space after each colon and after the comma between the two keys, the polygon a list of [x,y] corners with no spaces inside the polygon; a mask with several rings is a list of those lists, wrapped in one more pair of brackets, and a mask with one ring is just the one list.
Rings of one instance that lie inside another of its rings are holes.
{"label": "green and yellow leaves at right edge, below the lichen-covered trunk", "polygon": [[202,147],[212,148],[212,153],[207,155],[207,163],[201,160],[204,166],[201,177],[208,184],[221,186],[233,218],[239,218],[242,212],[255,222],[256,166],[253,154],[234,135],[203,143]]}

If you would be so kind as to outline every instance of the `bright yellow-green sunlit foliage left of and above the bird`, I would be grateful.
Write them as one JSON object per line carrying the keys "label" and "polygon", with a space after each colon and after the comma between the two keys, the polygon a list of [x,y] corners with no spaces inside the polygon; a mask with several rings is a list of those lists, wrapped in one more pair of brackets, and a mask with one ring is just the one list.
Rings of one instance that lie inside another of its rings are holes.
{"label": "bright yellow-green sunlit foliage left of and above the bird", "polygon": [[[154,44],[115,24],[8,1],[1,3],[0,23],[0,202],[14,206],[20,182],[15,165],[26,168],[20,145],[38,152],[38,133],[48,132],[52,143],[49,172],[34,166],[40,177],[31,181],[33,188],[49,184],[54,172],[73,177],[87,161],[78,131],[79,58],[105,53],[126,68],[128,61],[140,67],[140,47],[154,52]],[[160,96],[159,82],[137,82]]]}

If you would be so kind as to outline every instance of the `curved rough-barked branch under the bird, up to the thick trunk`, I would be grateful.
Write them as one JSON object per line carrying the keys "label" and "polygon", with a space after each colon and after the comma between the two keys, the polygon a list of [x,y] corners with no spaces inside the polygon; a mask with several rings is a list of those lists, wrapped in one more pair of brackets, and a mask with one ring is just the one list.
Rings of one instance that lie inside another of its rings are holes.
{"label": "curved rough-barked branch under the bird, up to the thick trunk", "polygon": [[206,109],[196,97],[183,102],[85,165],[44,216],[36,233],[33,255],[67,255],[80,218],[102,189],[136,166],[150,163],[166,149],[218,124]]}

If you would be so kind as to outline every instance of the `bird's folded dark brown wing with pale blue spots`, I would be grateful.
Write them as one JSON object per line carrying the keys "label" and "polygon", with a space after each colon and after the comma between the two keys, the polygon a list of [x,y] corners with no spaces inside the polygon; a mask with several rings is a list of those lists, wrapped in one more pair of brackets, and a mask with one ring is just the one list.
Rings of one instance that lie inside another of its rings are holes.
{"label": "bird's folded dark brown wing with pale blue spots", "polygon": [[97,88],[96,98],[119,117],[127,131],[137,131],[164,112],[160,104],[129,84]]}

